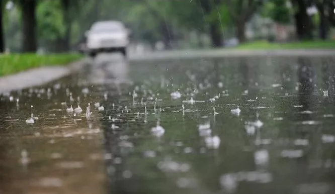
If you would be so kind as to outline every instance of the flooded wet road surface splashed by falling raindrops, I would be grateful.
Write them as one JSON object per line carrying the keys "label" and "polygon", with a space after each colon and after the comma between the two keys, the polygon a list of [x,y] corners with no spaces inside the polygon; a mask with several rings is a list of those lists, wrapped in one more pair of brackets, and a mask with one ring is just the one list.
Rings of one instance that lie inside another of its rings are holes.
{"label": "flooded wet road surface splashed by falling raindrops", "polygon": [[334,59],[100,55],[1,97],[0,193],[334,193]]}

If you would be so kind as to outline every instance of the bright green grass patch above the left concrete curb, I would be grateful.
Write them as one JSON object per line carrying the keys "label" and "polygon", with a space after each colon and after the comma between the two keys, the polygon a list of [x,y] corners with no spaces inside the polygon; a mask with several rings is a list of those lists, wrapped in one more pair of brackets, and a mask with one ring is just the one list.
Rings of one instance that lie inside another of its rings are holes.
{"label": "bright green grass patch above the left concrete curb", "polygon": [[0,55],[0,76],[41,66],[67,65],[82,57],[80,54],[3,54]]}

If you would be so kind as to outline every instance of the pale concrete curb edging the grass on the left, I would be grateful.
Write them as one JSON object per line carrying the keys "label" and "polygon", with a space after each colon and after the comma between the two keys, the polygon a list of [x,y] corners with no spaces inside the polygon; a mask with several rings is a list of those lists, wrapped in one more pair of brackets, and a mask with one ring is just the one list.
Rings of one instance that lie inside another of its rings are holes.
{"label": "pale concrete curb edging the grass on the left", "polygon": [[67,66],[45,66],[0,77],[0,94],[42,85],[59,79],[71,74],[72,72],[78,71],[83,65],[87,64],[87,62],[88,59],[83,58],[78,61],[74,61]]}

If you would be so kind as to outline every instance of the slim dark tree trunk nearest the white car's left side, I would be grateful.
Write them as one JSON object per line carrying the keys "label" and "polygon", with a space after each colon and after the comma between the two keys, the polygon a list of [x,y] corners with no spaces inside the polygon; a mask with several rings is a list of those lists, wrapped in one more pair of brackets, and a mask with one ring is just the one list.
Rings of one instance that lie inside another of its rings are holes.
{"label": "slim dark tree trunk nearest the white car's left side", "polygon": [[65,35],[63,37],[63,50],[70,50],[70,36],[71,36],[71,18],[70,18],[70,0],[62,0],[64,24],[65,24]]}

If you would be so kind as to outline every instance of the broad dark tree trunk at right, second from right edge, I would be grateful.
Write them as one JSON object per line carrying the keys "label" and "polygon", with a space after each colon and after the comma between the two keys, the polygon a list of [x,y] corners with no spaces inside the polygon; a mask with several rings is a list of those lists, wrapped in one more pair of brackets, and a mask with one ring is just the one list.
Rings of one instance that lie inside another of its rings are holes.
{"label": "broad dark tree trunk at right, second from right edge", "polygon": [[296,34],[299,40],[311,40],[312,35],[312,21],[307,15],[307,5],[301,0],[292,0],[292,4],[297,8],[294,14]]}

